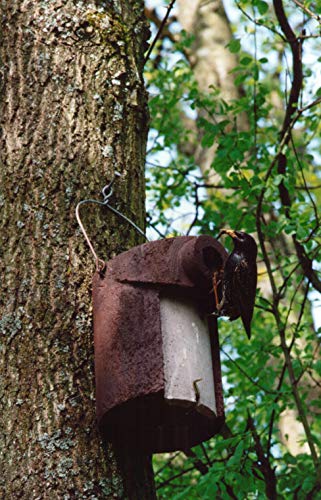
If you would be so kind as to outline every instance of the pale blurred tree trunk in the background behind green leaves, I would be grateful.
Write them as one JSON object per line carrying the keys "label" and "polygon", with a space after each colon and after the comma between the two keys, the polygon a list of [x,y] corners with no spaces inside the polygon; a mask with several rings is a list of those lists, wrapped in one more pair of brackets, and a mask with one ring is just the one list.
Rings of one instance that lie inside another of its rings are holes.
{"label": "pale blurred tree trunk in the background behind green leaves", "polygon": [[[228,103],[240,98],[240,89],[234,84],[235,76],[232,70],[238,64],[238,58],[232,54],[226,45],[231,41],[232,30],[224,9],[223,2],[210,0],[178,0],[177,17],[182,27],[194,36],[192,46],[193,71],[199,89],[210,92],[211,87],[219,89],[221,97]],[[202,113],[210,119],[205,112]],[[217,112],[215,120],[226,119]],[[247,130],[249,127],[245,113],[242,113],[237,123],[239,130]],[[191,124],[190,124],[191,127]],[[196,141],[192,154],[195,162],[202,172],[206,173],[209,183],[219,184],[220,176],[211,170],[211,164],[215,157],[216,147],[201,146],[203,136],[202,130],[197,130],[198,141]],[[185,146],[186,147],[186,146]],[[191,145],[189,145],[189,148]]]}

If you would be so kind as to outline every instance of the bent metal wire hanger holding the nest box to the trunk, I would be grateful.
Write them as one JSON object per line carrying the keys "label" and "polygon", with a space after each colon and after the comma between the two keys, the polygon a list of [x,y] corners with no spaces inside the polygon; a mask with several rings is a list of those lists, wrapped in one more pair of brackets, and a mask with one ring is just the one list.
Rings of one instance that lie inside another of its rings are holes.
{"label": "bent metal wire hanger holding the nest box to the trunk", "polygon": [[136,231],[148,241],[147,236],[145,235],[144,231],[142,231],[142,229],[140,229],[140,227],[138,227],[132,220],[130,220],[128,217],[126,217],[126,215],[119,212],[119,210],[117,210],[116,208],[111,206],[109,203],[109,198],[112,196],[113,191],[114,191],[113,184],[118,177],[121,177],[121,174],[119,172],[115,172],[114,177],[112,178],[110,183],[106,184],[106,186],[104,186],[103,189],[101,190],[102,195],[103,195],[103,201],[93,200],[93,199],[89,198],[87,200],[80,201],[76,206],[77,222],[78,222],[80,229],[82,230],[82,233],[83,233],[83,235],[88,243],[88,246],[91,250],[91,253],[93,254],[93,256],[95,258],[96,270],[100,273],[106,269],[107,264],[104,260],[100,259],[98,257],[98,255],[96,254],[95,249],[93,247],[93,244],[91,243],[89,236],[84,228],[84,225],[81,222],[80,213],[79,213],[79,209],[80,209],[81,205],[84,205],[85,203],[95,203],[96,205],[101,205],[103,207],[108,208],[111,212],[116,214],[118,217],[120,217],[120,218],[124,219],[126,222],[128,222],[128,224],[130,224],[134,229],[136,229]]}

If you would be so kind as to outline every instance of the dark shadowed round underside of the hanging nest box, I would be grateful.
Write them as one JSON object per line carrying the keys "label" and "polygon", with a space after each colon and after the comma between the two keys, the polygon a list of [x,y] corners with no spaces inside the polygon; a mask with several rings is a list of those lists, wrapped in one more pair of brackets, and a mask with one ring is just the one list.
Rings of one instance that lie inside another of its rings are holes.
{"label": "dark shadowed round underside of the hanging nest box", "polygon": [[197,404],[182,403],[169,404],[160,391],[108,411],[98,427],[105,440],[146,453],[189,449],[219,433],[224,415],[205,415]]}

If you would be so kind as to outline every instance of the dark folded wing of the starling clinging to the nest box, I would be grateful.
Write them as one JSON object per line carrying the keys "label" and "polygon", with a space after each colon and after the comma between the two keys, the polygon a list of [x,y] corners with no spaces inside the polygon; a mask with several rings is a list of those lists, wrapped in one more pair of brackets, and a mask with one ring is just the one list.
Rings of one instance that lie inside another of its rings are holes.
{"label": "dark folded wing of the starling clinging to the nest box", "polygon": [[251,338],[251,320],[255,302],[256,282],[256,265],[252,265],[246,259],[240,259],[235,266],[233,287],[248,338]]}

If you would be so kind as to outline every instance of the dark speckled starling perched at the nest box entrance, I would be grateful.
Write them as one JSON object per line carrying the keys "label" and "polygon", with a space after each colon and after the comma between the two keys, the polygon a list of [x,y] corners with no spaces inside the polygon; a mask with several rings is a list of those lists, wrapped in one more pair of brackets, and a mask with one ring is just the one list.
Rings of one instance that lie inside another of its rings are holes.
{"label": "dark speckled starling perched at the nest box entrance", "polygon": [[257,245],[249,234],[223,229],[219,236],[228,234],[233,238],[234,248],[228,256],[221,277],[222,299],[218,303],[217,285],[214,276],[214,295],[218,316],[228,316],[231,321],[241,316],[248,338],[251,338],[257,268]]}

